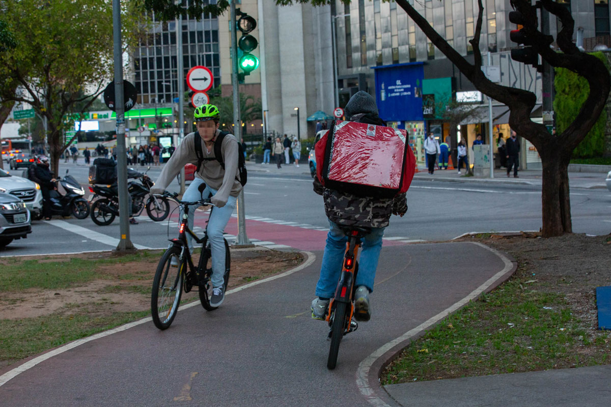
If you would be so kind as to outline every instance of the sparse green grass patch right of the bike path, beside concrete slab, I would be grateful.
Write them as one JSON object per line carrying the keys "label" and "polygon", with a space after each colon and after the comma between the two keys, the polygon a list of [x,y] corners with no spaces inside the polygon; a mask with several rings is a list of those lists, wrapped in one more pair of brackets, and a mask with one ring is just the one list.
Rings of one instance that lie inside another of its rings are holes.
{"label": "sparse green grass patch right of the bike path, beside concrete slab", "polygon": [[540,292],[532,283],[527,276],[514,277],[450,315],[384,370],[382,384],[606,362],[606,339],[593,340],[602,351],[579,353],[582,345],[591,345],[591,339],[565,296]]}

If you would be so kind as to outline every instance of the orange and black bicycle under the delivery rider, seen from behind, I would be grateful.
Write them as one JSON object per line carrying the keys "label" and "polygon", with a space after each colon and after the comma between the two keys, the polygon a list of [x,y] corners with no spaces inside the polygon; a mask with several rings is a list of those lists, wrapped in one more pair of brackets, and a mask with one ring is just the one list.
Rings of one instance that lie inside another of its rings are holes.
{"label": "orange and black bicycle under the delivery rider, seen from behind", "polygon": [[356,275],[359,272],[359,262],[356,261],[361,245],[360,239],[370,234],[370,228],[357,228],[355,226],[342,228],[348,236],[346,243],[346,254],[342,266],[342,273],[337,282],[335,295],[329,301],[329,312],[326,321],[331,330],[328,338],[331,339],[329,347],[329,358],[327,358],[327,369],[335,369],[340,342],[344,335],[354,332],[359,324],[353,320],[354,317],[354,292],[356,292]]}

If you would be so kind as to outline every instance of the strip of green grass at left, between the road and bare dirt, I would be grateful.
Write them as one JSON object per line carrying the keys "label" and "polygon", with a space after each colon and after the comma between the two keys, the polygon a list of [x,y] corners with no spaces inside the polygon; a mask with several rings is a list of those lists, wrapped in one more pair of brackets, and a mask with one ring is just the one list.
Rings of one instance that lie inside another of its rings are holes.
{"label": "strip of green grass at left, between the road and bare dirt", "polygon": [[[82,284],[92,279],[106,278],[97,273],[100,265],[122,264],[133,261],[158,259],[158,253],[148,251],[128,254],[126,256],[106,259],[70,259],[53,261],[53,259],[18,260],[10,259],[2,265],[0,273],[0,292],[20,292],[31,288],[64,289],[73,284]],[[50,261],[49,261],[50,260]],[[144,272],[137,272],[139,275]],[[141,276],[136,276],[137,279]]]}

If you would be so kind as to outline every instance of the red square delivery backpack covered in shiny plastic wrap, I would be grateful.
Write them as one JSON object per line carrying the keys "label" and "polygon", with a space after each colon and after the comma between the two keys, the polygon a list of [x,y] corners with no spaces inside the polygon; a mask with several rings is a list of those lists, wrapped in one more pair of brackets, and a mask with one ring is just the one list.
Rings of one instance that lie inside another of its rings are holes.
{"label": "red square delivery backpack covered in shiny plastic wrap", "polygon": [[319,178],[327,188],[393,198],[406,192],[414,178],[415,157],[405,130],[337,120],[317,143],[316,161],[323,146]]}

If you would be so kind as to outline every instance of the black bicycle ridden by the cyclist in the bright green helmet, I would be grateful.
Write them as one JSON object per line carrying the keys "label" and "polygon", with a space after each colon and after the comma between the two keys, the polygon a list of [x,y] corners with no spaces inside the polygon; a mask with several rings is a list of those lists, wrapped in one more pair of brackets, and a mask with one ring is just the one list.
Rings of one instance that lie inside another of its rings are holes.
{"label": "black bicycle ridden by the cyclist in the bright green helmet", "polygon": [[[160,330],[166,330],[172,325],[172,321],[174,321],[178,306],[180,305],[180,297],[183,289],[185,293],[187,293],[190,292],[193,287],[197,287],[199,290],[199,299],[203,308],[206,311],[214,311],[214,309],[218,308],[210,305],[212,267],[211,264],[210,267],[208,267],[208,263],[211,259],[208,236],[205,233],[202,239],[200,239],[191,229],[189,229],[187,224],[189,206],[214,205],[210,202],[210,199],[192,202],[181,201],[177,199],[177,193],[170,194],[166,192],[163,193],[163,195],[156,196],[170,198],[184,208],[184,213],[178,228],[178,237],[169,239],[170,242],[172,242],[172,247],[167,249],[161,257],[161,260],[159,260],[155,278],[153,278],[153,290],[151,294],[153,323],[155,323],[155,326]],[[210,214],[212,214],[213,210],[214,208],[211,209]],[[208,220],[210,220],[210,217],[208,217]],[[191,260],[187,234],[191,235],[198,244],[202,245],[202,253],[200,254],[197,267],[194,267]],[[229,243],[227,243],[227,239],[223,240],[225,242],[224,289],[227,290],[231,268],[231,256],[229,253]],[[175,260],[176,265],[172,265],[172,259]]]}

